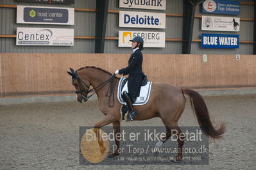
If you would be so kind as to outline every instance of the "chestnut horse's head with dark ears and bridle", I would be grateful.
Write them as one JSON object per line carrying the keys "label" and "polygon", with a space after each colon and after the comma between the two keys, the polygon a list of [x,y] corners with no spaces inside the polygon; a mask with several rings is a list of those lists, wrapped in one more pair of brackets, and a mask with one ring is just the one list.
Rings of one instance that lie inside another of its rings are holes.
{"label": "chestnut horse's head with dark ears and bridle", "polygon": [[78,76],[76,70],[73,68],[69,68],[71,72],[67,72],[69,75],[72,76],[72,84],[74,86],[74,93],[76,93],[76,99],[78,102],[87,102],[88,98],[87,95],[90,93],[90,82],[87,80],[83,80]]}

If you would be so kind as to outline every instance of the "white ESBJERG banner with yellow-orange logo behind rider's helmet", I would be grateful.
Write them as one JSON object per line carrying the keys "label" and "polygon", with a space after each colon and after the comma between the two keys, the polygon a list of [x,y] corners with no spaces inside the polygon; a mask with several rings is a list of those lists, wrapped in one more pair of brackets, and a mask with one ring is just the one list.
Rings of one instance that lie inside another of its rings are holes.
{"label": "white ESBJERG banner with yellow-orange logo behind rider's helmet", "polygon": [[144,47],[165,47],[165,32],[145,32],[145,31],[119,31],[118,47],[132,47],[132,38],[141,36],[144,40]]}

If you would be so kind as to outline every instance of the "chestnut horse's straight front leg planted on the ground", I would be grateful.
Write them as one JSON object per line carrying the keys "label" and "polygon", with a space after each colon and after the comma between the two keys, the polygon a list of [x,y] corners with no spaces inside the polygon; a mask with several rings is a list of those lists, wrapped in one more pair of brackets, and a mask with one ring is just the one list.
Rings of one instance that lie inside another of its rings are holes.
{"label": "chestnut horse's straight front leg planted on the ground", "polygon": [[113,122],[114,136],[115,136],[115,150],[113,153],[108,154],[108,158],[113,158],[120,153],[120,121]]}

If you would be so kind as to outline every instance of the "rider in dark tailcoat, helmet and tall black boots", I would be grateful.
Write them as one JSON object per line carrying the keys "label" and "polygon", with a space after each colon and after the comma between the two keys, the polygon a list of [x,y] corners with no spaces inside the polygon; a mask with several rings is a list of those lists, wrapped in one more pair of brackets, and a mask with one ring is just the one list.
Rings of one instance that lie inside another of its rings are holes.
{"label": "rider in dark tailcoat, helmet and tall black boots", "polygon": [[124,91],[122,94],[124,102],[128,105],[129,118],[126,121],[131,121],[137,116],[137,112],[133,109],[133,103],[136,101],[136,98],[139,97],[141,91],[141,83],[144,78],[144,73],[142,72],[142,61],[143,56],[141,50],[143,50],[144,40],[141,36],[135,36],[132,40],[132,49],[133,52],[128,61],[128,66],[121,70],[116,70],[115,74],[123,74],[128,76],[128,91]]}

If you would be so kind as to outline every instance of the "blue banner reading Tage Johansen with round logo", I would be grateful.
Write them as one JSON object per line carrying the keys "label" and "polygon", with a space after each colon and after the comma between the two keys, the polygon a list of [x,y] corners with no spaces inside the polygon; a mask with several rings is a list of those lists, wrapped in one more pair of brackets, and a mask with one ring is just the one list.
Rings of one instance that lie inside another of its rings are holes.
{"label": "blue banner reading Tage Johansen with round logo", "polygon": [[206,0],[203,2],[202,8],[203,13],[240,15],[239,1]]}

